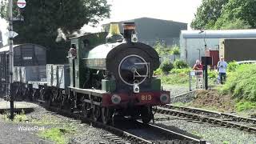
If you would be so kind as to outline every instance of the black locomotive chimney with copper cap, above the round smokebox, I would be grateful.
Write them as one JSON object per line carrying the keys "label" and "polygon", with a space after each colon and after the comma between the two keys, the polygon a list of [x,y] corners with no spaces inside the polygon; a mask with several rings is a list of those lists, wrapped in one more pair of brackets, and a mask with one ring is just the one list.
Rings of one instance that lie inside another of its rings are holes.
{"label": "black locomotive chimney with copper cap, above the round smokebox", "polygon": [[126,42],[138,42],[138,38],[135,33],[135,23],[134,22],[124,22],[123,23],[123,36]]}

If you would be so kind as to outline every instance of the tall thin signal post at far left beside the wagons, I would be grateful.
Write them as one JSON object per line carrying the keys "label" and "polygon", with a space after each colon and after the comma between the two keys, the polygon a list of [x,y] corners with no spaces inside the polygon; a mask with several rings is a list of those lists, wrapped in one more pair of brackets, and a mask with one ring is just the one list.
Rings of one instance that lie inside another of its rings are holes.
{"label": "tall thin signal post at far left beside the wagons", "polygon": [[9,0],[9,63],[10,63],[10,85],[9,85],[9,97],[10,97],[10,119],[14,119],[14,93],[13,93],[13,75],[14,75],[14,48],[13,48],[13,36],[11,33],[14,31],[13,26],[13,0]]}

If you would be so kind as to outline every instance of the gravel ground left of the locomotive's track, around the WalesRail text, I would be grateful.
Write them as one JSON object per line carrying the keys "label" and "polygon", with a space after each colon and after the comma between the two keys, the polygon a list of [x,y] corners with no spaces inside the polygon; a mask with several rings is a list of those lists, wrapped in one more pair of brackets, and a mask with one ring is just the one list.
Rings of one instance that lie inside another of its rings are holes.
{"label": "gravel ground left of the locomotive's track, around the WalesRail text", "polygon": [[109,134],[106,130],[94,128],[85,123],[81,123],[78,120],[72,118],[66,118],[62,115],[54,114],[48,110],[45,110],[41,106],[35,108],[34,112],[26,114],[28,122],[6,122],[3,115],[0,115],[0,144],[16,144],[16,143],[40,143],[50,144],[54,143],[50,140],[40,138],[40,130],[18,130],[19,126],[24,127],[43,127],[44,130],[51,128],[72,127],[74,133],[66,134],[65,138],[69,143],[82,143],[82,144],[94,144],[94,143],[110,143],[106,138],[103,138],[104,134]]}

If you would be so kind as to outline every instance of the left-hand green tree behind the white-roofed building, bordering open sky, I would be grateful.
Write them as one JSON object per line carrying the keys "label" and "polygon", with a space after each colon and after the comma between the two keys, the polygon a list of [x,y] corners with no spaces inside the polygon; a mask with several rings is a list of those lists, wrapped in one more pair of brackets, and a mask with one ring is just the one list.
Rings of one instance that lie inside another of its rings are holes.
{"label": "left-hand green tree behind the white-roofed building, bordering open sky", "polygon": [[212,29],[227,2],[229,0],[202,0],[202,5],[198,7],[190,26],[194,30]]}

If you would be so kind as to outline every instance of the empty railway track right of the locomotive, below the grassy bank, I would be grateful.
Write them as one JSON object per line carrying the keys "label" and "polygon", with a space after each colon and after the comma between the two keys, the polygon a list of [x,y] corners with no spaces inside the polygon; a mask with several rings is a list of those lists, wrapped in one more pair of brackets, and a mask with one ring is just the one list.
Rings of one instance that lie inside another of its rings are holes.
{"label": "empty railway track right of the locomotive, below the grassy bank", "polygon": [[170,104],[159,106],[156,112],[186,118],[187,121],[208,122],[214,126],[234,127],[239,130],[256,132],[256,119],[245,118],[234,114],[225,114],[211,110],[174,106]]}

